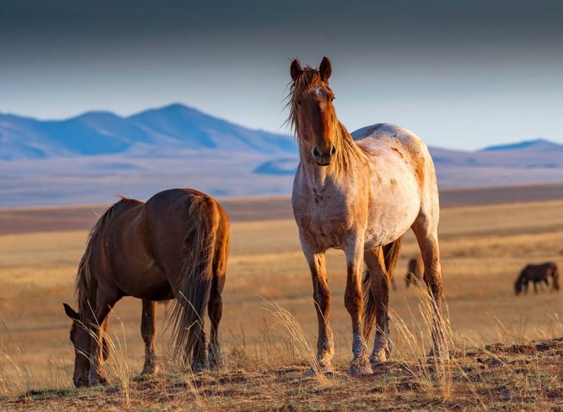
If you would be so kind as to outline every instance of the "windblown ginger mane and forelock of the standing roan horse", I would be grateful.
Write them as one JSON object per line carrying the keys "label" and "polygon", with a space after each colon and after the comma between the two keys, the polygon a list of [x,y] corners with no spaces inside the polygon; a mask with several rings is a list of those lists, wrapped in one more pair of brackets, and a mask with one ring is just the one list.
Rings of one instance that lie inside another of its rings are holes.
{"label": "windblown ginger mane and forelock of the standing roan horse", "polygon": [[[288,102],[286,103],[286,108],[289,107],[289,116],[285,124],[289,124],[295,133],[297,140],[299,141],[299,120],[296,113],[298,96],[302,94],[310,93],[317,86],[328,86],[328,82],[324,82],[321,78],[319,70],[313,69],[310,66],[305,66],[301,71],[301,74],[291,82],[289,89],[289,94],[287,95]],[[338,120],[337,120],[338,121]],[[352,136],[348,132],[348,129],[338,121],[338,134],[339,136],[335,139],[334,144],[340,156],[336,157],[334,161],[334,170],[337,175],[343,174],[348,169],[348,165],[352,162],[352,157],[358,155],[361,150],[352,139]]]}

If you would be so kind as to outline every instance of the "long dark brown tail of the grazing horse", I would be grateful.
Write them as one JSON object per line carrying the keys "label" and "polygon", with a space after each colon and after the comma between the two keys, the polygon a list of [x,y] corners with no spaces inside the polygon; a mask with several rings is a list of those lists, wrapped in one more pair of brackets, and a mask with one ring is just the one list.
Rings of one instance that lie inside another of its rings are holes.
{"label": "long dark brown tail of the grazing horse", "polygon": [[[192,352],[198,352],[198,356],[204,356],[205,353],[203,317],[213,284],[215,243],[220,225],[217,202],[208,195],[194,195],[191,198],[189,217],[191,226],[184,236],[186,257],[182,265],[179,290],[170,313],[175,354],[181,354],[184,362],[189,362]],[[196,345],[198,349],[194,350]],[[194,361],[205,363],[205,359]],[[192,366],[196,365],[192,363]]]}

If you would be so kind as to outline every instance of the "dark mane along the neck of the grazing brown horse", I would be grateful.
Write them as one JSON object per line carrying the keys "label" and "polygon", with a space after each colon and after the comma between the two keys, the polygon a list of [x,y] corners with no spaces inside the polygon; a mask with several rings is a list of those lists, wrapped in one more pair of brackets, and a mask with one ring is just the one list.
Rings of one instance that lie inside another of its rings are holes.
{"label": "dark mane along the neck of the grazing brown horse", "polygon": [[108,221],[110,220],[113,215],[116,213],[121,213],[124,210],[129,210],[130,207],[134,205],[139,205],[142,202],[140,200],[135,199],[128,199],[120,196],[120,200],[115,202],[113,205],[108,207],[106,212],[104,212],[101,217],[96,221],[94,227],[91,228],[91,231],[88,235],[86,250],[84,251],[84,255],[82,255],[82,259],[80,259],[80,264],[78,264],[78,271],[76,274],[76,281],[75,281],[75,295],[76,295],[76,306],[78,309],[78,313],[80,316],[84,316],[88,312],[94,310],[96,302],[90,302],[91,299],[91,292],[93,291],[93,283],[92,283],[92,272],[91,272],[91,256],[96,246],[97,238],[99,237],[99,233],[101,228],[106,226]]}

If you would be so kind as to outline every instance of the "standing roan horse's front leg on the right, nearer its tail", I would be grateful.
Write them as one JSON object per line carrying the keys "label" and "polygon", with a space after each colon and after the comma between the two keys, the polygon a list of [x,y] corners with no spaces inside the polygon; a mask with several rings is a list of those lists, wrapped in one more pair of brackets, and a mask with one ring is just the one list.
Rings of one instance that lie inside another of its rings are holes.
{"label": "standing roan horse's front leg on the right, nearer its tail", "polygon": [[350,362],[350,375],[371,375],[372,366],[367,359],[367,345],[362,335],[362,266],[363,266],[364,244],[360,241],[353,241],[353,244],[346,249],[346,292],[344,295],[344,305],[352,320],[352,353],[353,359]]}

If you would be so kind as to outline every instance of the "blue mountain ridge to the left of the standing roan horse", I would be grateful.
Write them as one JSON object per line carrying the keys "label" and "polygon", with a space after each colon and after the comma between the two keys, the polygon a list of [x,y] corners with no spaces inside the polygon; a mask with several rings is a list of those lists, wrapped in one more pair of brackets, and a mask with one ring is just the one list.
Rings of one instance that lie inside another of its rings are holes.
{"label": "blue mountain ridge to the left of the standing roan horse", "polygon": [[23,160],[177,148],[292,153],[291,136],[251,130],[181,104],[120,117],[87,112],[67,120],[0,115],[0,159]]}

